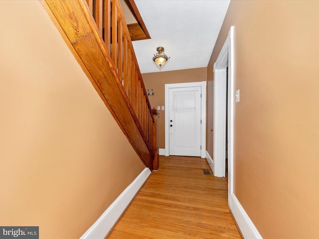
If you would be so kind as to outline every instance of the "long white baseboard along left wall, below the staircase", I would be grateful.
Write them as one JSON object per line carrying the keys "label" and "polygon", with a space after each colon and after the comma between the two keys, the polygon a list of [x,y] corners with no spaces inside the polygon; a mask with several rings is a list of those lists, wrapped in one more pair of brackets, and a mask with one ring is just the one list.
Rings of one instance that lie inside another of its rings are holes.
{"label": "long white baseboard along left wall, below the staircase", "polygon": [[80,239],[105,238],[150,174],[150,169],[145,168]]}

